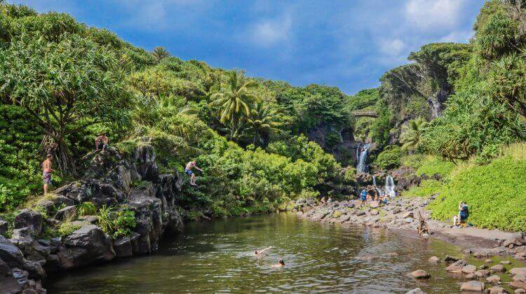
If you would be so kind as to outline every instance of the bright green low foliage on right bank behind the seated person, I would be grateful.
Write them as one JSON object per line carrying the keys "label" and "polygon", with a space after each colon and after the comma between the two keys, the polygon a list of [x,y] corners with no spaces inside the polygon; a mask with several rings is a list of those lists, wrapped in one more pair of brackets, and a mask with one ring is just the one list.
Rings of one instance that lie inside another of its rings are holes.
{"label": "bright green low foliage on right bank behind the seated person", "polygon": [[[457,205],[469,205],[468,221],[481,228],[523,231],[526,228],[526,161],[510,155],[488,165],[471,165],[454,173],[440,197],[430,204],[432,216],[450,221]],[[445,200],[441,201],[441,197]]]}

